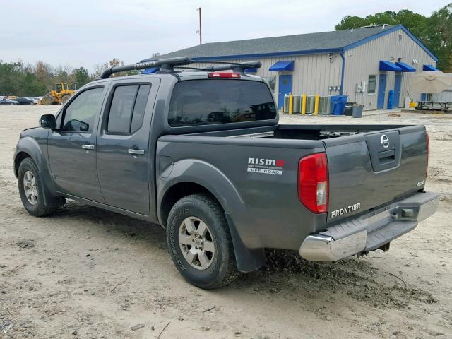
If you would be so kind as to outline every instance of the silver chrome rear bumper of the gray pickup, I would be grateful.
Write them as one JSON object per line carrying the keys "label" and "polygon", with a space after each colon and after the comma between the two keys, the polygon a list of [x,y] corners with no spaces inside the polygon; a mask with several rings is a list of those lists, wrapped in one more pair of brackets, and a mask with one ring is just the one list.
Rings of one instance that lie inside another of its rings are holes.
{"label": "silver chrome rear bumper of the gray pickup", "polygon": [[439,195],[417,193],[359,218],[339,222],[309,235],[299,254],[312,261],[337,261],[347,256],[379,249],[413,230],[438,208]]}

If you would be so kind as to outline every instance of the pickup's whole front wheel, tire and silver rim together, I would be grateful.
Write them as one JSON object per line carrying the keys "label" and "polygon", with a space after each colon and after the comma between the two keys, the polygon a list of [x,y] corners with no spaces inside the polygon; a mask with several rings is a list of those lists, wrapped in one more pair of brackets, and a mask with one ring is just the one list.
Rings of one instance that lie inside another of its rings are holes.
{"label": "pickup's whole front wheel, tire and silver rim together", "polygon": [[44,205],[44,187],[35,162],[29,157],[20,162],[18,186],[23,206],[31,215],[43,217],[53,213],[56,208]]}

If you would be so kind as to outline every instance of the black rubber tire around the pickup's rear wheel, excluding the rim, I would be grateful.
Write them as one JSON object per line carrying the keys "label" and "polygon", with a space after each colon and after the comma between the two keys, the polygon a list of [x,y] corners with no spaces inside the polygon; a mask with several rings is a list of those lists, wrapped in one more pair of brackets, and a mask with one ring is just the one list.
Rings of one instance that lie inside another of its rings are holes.
{"label": "black rubber tire around the pickup's rear wheel, excluding the rim", "polygon": [[[215,251],[206,269],[196,269],[182,254],[179,231],[186,218],[195,217],[208,225],[208,232]],[[230,230],[221,206],[207,194],[185,196],[174,204],[167,221],[167,243],[174,265],[191,284],[206,290],[222,287],[237,278],[239,271],[235,261]]]}

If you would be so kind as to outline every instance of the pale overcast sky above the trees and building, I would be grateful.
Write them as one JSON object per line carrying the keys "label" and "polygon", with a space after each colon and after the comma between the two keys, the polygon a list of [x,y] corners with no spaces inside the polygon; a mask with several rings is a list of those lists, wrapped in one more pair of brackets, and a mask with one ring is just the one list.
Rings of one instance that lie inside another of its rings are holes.
{"label": "pale overcast sky above the trees and building", "polygon": [[[6,0],[0,0],[1,2]],[[0,8],[0,59],[85,66],[128,63],[203,42],[334,30],[346,15],[408,8],[429,16],[449,0],[76,0],[7,1]]]}

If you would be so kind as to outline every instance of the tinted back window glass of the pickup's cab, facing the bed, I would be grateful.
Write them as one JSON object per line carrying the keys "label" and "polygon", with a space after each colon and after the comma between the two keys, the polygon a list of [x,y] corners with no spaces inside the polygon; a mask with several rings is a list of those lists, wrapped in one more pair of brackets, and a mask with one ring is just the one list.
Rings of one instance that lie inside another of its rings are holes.
{"label": "tinted back window glass of the pickup's cab, facing the bed", "polygon": [[258,81],[209,79],[174,85],[168,124],[172,127],[275,119],[273,96]]}

